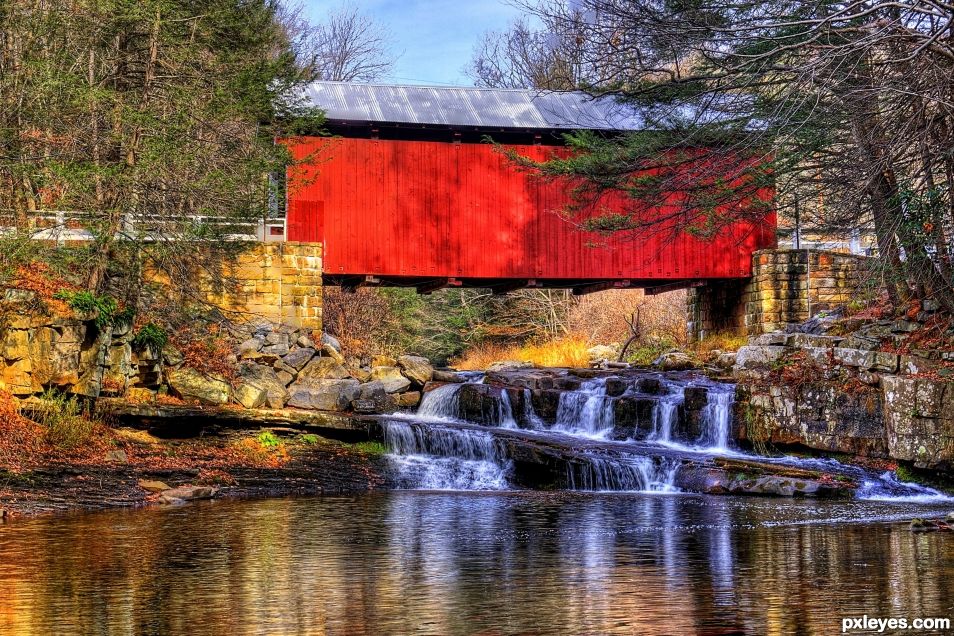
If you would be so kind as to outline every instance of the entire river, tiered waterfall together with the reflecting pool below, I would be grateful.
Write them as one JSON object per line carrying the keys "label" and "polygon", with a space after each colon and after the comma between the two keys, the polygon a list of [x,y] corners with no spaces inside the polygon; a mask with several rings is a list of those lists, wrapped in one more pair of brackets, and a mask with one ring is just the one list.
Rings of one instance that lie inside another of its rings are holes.
{"label": "entire river, tiered waterfall together with the reflecting pool below", "polygon": [[[0,629],[761,635],[954,618],[954,533],[907,523],[954,499],[832,459],[757,458],[731,437],[733,393],[690,376],[597,378],[537,413],[528,389],[478,374],[382,421],[402,490],[0,525]],[[687,475],[726,457],[857,489],[689,491]]]}

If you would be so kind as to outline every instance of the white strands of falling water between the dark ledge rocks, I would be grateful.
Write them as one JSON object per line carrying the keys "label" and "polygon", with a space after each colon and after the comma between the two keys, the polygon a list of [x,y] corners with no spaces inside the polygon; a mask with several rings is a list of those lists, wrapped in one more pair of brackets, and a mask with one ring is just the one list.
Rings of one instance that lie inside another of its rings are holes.
{"label": "white strands of falling water between the dark ledge rocks", "polygon": [[[482,384],[483,376],[474,375],[472,384]],[[563,391],[557,404],[555,421],[545,422],[535,411],[532,392],[521,389],[520,413],[514,412],[508,391],[494,393],[496,403],[486,415],[487,422],[460,419],[460,391],[465,384],[447,384],[425,394],[414,415],[395,415],[384,422],[389,461],[394,466],[400,487],[424,490],[506,490],[512,488],[509,475],[513,464],[498,443],[496,429],[525,428],[534,435],[576,436],[587,440],[609,440],[615,428],[615,398],[606,394],[606,379],[586,380],[576,391]],[[684,391],[704,387],[706,403],[701,413],[698,439],[680,439],[680,418],[685,417]],[[733,448],[732,417],[735,399],[733,385],[701,383],[697,380],[665,379],[661,395],[641,394],[639,399],[654,399],[650,432],[643,444],[659,444],[668,449],[705,455],[749,456]],[[628,395],[633,395],[632,389]],[[486,412],[486,411],[485,411]],[[474,424],[485,427],[462,427]],[[557,443],[566,444],[563,439]],[[627,442],[614,442],[626,444]],[[630,440],[628,443],[632,443]],[[650,453],[652,455],[652,453]],[[753,456],[754,457],[754,456]],[[839,464],[832,459],[796,457],[758,457],[763,462],[831,471],[861,483],[856,496],[869,501],[931,503],[954,498],[918,484],[897,480],[893,473],[878,475],[863,468]],[[581,455],[567,469],[571,489],[588,491],[674,492],[680,462],[657,456],[603,454]]]}

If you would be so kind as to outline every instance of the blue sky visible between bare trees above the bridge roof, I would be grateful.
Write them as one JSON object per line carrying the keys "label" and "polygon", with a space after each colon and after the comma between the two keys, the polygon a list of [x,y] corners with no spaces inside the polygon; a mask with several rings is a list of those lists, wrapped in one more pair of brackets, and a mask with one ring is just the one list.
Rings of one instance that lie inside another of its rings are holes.
{"label": "blue sky visible between bare trees above the bridge roof", "polygon": [[[320,21],[340,0],[305,0]],[[501,30],[520,11],[501,0],[354,0],[363,13],[386,26],[401,54],[389,83],[471,85],[462,68],[484,31]]]}

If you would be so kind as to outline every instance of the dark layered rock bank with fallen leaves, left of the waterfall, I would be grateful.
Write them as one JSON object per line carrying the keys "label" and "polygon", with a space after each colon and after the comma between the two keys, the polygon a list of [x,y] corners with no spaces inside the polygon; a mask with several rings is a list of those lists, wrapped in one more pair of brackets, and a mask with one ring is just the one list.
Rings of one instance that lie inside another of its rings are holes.
{"label": "dark layered rock bank with fallen leaves, left of the waterfall", "polygon": [[290,430],[175,440],[126,428],[106,435],[104,452],[87,449],[62,461],[0,467],[0,515],[9,520],[211,497],[357,493],[387,485],[384,449],[375,443]]}

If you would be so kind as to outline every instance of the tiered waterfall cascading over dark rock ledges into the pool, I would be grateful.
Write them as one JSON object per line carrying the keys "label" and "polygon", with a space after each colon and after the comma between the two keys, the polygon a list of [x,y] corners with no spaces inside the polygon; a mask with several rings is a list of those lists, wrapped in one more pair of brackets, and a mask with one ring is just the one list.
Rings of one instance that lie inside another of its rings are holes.
{"label": "tiered waterfall cascading over dark rock ledges into the pool", "polygon": [[[555,481],[574,490],[672,492],[680,482],[684,461],[680,457],[699,462],[728,454],[841,475],[861,484],[859,499],[948,499],[936,490],[899,482],[893,474],[877,475],[834,460],[756,457],[733,450],[735,387],[729,384],[647,374],[635,380],[616,379],[612,395],[604,377],[588,379],[579,389],[557,396],[554,391],[501,389],[484,384],[480,374],[467,379],[428,391],[416,414],[395,415],[383,422],[388,457],[400,487],[508,489],[524,483],[522,468],[518,470],[508,453],[532,443],[566,449],[565,455],[557,454],[566,474]],[[511,395],[519,400],[519,413]],[[549,412],[549,419],[534,409],[534,400],[541,396],[557,398],[543,404],[541,413]],[[624,404],[626,408],[617,407]],[[464,419],[478,416],[481,421]],[[510,446],[503,441],[508,436]],[[686,479],[691,480],[691,473],[685,473],[682,480]]]}

